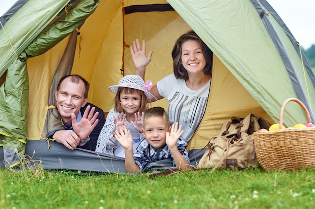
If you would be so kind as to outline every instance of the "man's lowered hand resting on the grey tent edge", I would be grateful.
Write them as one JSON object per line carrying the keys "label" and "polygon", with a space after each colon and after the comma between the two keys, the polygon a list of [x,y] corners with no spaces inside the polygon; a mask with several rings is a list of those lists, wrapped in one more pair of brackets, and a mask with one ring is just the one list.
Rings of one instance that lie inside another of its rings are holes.
{"label": "man's lowered hand resting on the grey tent edge", "polygon": [[52,138],[71,150],[76,149],[77,145],[80,144],[80,138],[72,130],[56,131]]}

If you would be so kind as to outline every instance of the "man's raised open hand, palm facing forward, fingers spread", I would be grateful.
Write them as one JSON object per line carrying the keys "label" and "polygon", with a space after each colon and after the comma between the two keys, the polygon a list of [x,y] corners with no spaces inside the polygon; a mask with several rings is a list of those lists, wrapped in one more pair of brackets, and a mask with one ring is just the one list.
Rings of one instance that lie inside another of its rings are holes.
{"label": "man's raised open hand, palm facing forward, fingers spread", "polygon": [[96,119],[99,115],[99,112],[95,111],[95,107],[92,107],[91,112],[89,113],[91,106],[88,105],[87,109],[84,111],[82,119],[80,122],[76,122],[75,114],[71,114],[72,127],[76,135],[80,140],[85,140],[92,133],[93,129],[99,123],[99,119]]}

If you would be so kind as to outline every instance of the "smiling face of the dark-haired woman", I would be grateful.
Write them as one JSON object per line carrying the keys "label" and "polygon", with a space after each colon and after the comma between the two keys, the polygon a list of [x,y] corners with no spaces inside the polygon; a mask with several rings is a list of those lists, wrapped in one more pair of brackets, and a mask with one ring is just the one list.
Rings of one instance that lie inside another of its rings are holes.
{"label": "smiling face of the dark-haired woman", "polygon": [[182,44],[182,64],[189,74],[203,73],[206,59],[197,41],[188,40]]}

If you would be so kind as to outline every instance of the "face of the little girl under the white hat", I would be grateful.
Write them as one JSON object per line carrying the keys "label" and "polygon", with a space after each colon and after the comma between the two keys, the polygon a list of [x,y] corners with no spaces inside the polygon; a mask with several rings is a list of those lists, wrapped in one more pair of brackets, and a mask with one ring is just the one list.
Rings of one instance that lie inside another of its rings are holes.
{"label": "face of the little girl under the white hat", "polygon": [[137,113],[141,106],[141,95],[138,93],[126,93],[122,91],[119,95],[121,108],[126,114]]}

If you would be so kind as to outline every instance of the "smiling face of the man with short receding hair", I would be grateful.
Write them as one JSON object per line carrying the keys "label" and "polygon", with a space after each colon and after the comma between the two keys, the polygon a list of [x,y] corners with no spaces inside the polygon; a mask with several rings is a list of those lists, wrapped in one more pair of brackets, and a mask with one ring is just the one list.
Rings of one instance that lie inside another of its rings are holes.
{"label": "smiling face of the man with short receding hair", "polygon": [[83,81],[72,83],[70,78],[62,81],[59,91],[55,91],[56,106],[65,125],[72,124],[71,114],[77,117],[81,107],[87,104],[88,98],[84,98],[85,85]]}

